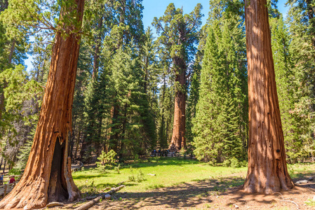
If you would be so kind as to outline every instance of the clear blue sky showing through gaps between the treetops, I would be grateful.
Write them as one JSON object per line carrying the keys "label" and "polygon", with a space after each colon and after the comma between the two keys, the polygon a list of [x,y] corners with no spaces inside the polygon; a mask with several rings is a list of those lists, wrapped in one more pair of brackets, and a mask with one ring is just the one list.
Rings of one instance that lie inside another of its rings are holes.
{"label": "clear blue sky showing through gaps between the treetops", "polygon": [[[279,0],[278,2],[278,8],[281,13],[283,13],[283,17],[286,18],[286,12],[288,8],[284,6],[284,3],[286,0]],[[208,18],[208,12],[209,12],[209,0],[143,0],[143,24],[145,26],[145,29],[147,27],[152,27],[152,21],[153,18],[159,18],[164,14],[164,11],[166,10],[166,7],[170,3],[174,3],[176,8],[183,8],[184,13],[190,13],[192,10],[194,10],[194,7],[197,3],[201,3],[203,6],[203,10],[201,12],[203,13],[202,23],[203,25],[206,23],[206,20]],[[156,36],[156,35],[154,35]],[[25,64],[27,65],[27,71],[30,71],[32,69],[32,57],[29,56],[27,60],[25,60]]]}

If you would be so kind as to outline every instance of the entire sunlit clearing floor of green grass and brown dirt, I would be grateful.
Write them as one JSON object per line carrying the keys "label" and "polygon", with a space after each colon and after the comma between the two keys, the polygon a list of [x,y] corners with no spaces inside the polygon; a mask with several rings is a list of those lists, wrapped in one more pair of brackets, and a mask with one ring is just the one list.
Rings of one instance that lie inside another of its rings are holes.
{"label": "entire sunlit clearing floor of green grass and brown dirt", "polygon": [[[294,182],[315,179],[314,163],[288,165],[288,169]],[[128,180],[126,188],[115,193],[112,200],[91,209],[315,209],[315,180],[288,192],[248,195],[241,191],[246,170],[212,167],[196,160],[156,158],[125,166],[119,174],[114,169],[106,173],[84,169],[74,173],[74,181],[83,197],[88,197]],[[81,202],[59,209],[79,205]]]}

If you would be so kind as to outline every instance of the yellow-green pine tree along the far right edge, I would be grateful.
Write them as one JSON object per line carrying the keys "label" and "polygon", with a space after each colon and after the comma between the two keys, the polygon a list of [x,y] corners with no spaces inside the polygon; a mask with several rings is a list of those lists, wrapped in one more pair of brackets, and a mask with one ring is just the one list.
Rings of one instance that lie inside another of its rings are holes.
{"label": "yellow-green pine tree along the far right edge", "polygon": [[[314,111],[315,111],[315,32],[314,1],[288,1],[288,53],[292,62],[294,107],[290,110],[295,124],[294,144],[286,144],[289,160],[314,155]],[[292,87],[292,86],[291,86]],[[291,89],[290,87],[290,89]]]}

